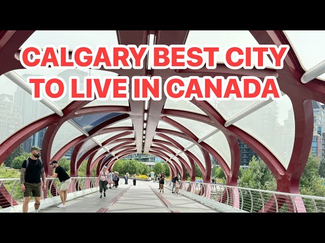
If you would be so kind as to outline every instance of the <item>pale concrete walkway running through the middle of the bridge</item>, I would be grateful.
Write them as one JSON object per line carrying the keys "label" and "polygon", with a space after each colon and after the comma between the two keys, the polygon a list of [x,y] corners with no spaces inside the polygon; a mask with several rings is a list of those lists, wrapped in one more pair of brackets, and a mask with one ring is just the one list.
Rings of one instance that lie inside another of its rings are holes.
{"label": "pale concrete walkway running through the middle of the bridge", "polygon": [[165,188],[159,193],[158,183],[132,180],[128,185],[120,179],[118,188],[108,189],[106,197],[100,198],[100,193],[92,193],[75,200],[67,201],[66,208],[56,206],[40,210],[40,213],[216,213],[217,211],[187,198],[174,194]]}

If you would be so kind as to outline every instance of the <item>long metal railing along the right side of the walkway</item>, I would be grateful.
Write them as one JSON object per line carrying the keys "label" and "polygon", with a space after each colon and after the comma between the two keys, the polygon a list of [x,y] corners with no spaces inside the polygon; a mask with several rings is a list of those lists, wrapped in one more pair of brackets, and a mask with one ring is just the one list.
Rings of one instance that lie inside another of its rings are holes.
{"label": "long metal railing along the right side of the walkway", "polygon": [[[172,186],[171,180],[165,184]],[[249,213],[324,213],[325,197],[181,181],[180,192],[199,195]]]}

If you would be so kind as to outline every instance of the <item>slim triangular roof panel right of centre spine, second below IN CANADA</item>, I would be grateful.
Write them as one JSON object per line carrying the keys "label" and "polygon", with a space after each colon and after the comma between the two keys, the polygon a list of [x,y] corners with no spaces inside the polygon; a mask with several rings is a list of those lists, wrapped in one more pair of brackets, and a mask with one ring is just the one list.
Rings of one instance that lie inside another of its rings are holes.
{"label": "slim triangular roof panel right of centre spine, second below IN CANADA", "polygon": [[201,123],[200,121],[197,121],[197,120],[176,117],[176,116],[167,116],[167,117],[177,121],[180,125],[187,128],[194,135],[196,135],[199,139],[215,129],[212,126],[205,124],[205,123]]}

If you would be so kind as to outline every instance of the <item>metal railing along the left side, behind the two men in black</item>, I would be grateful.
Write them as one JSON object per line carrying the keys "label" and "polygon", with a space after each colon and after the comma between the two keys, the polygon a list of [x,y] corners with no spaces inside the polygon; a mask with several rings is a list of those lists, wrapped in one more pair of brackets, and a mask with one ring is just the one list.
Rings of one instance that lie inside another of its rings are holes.
{"label": "metal railing along the left side, behind the two men in black", "polygon": [[[98,177],[71,177],[68,193],[98,187]],[[42,188],[43,181],[41,180]],[[46,190],[42,189],[41,199],[58,196],[61,182],[57,178],[46,178]],[[31,196],[30,200],[34,200]],[[23,191],[20,189],[20,178],[0,179],[0,209],[23,204]]]}

